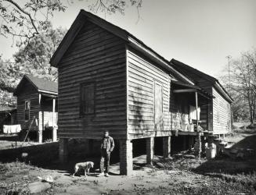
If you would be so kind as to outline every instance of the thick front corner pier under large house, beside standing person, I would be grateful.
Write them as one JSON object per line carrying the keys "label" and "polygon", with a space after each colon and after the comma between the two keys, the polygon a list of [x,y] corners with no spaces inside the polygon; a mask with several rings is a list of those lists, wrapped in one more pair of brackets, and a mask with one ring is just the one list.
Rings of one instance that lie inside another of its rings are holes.
{"label": "thick front corner pier under large house, beside standing person", "polygon": [[132,175],[132,142],[119,140],[120,143],[120,175]]}

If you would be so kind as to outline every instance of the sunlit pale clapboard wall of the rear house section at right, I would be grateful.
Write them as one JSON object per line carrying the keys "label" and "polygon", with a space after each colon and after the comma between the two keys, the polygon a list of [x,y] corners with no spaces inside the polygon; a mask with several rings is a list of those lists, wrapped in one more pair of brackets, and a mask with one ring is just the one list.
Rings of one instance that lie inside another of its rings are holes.
{"label": "sunlit pale clapboard wall of the rear house section at right", "polygon": [[227,133],[231,130],[230,104],[214,87],[212,87],[212,94],[215,96],[213,99],[214,133]]}

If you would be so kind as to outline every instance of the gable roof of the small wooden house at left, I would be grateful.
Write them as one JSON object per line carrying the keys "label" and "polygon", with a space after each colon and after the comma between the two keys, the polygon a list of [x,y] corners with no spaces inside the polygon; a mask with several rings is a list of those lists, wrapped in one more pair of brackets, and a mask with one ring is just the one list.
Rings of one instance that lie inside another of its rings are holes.
{"label": "gable roof of the small wooden house at left", "polygon": [[13,95],[17,95],[20,93],[20,90],[23,90],[22,88],[25,82],[30,82],[36,88],[36,90],[38,90],[38,92],[56,95],[58,94],[58,83],[31,75],[24,75],[14,90]]}

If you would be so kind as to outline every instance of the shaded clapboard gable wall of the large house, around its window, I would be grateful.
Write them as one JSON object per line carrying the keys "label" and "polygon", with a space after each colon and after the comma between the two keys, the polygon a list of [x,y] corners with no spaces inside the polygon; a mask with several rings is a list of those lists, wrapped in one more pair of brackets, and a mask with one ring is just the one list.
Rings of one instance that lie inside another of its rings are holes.
{"label": "shaded clapboard gable wall of the large house, around its window", "polygon": [[[95,113],[80,115],[81,83],[95,83]],[[59,62],[58,135],[127,138],[124,41],[86,22]]]}

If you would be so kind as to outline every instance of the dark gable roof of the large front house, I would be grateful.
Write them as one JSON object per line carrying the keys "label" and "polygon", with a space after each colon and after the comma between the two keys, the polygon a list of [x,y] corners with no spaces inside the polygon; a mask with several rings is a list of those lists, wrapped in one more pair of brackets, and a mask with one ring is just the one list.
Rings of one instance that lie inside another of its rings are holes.
{"label": "dark gable roof of the large front house", "polygon": [[74,41],[74,38],[79,33],[86,20],[95,23],[96,25],[105,30],[110,31],[110,33],[116,35],[117,37],[120,37],[126,42],[126,44],[128,44],[128,46],[134,48],[136,51],[142,52],[143,55],[146,55],[146,57],[153,60],[153,62],[157,62],[159,66],[162,66],[164,69],[170,71],[170,73],[172,73],[177,79],[182,80],[185,83],[194,84],[192,80],[189,80],[189,78],[182,75],[182,73],[179,73],[176,69],[171,67],[167,59],[157,54],[157,52],[153,51],[152,48],[146,46],[146,44],[144,44],[138,38],[128,33],[127,30],[124,30],[121,27],[117,27],[114,24],[109,23],[106,20],[103,20],[99,16],[96,16],[90,12],[86,12],[84,9],[81,9],[77,18],[74,20],[74,23],[72,23],[70,29],[67,31],[67,34],[65,35],[65,37],[63,37],[63,40],[59,44],[59,47],[52,55],[52,58],[50,59],[51,66],[58,66],[61,58],[63,58],[63,55],[69,48],[70,44],[72,44],[72,42]]}

